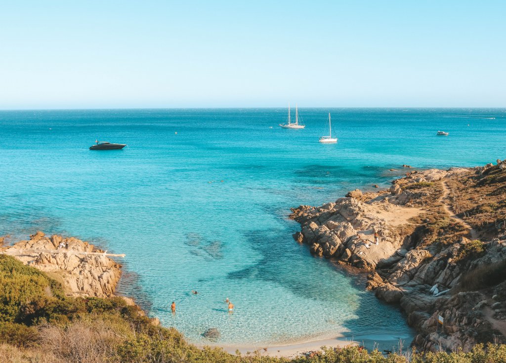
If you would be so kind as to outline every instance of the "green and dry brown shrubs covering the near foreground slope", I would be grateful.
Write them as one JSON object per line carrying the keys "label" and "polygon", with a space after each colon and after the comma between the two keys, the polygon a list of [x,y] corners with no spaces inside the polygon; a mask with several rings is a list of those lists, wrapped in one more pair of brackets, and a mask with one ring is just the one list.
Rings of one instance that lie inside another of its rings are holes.
{"label": "green and dry brown shrubs covering the near foreground slope", "polygon": [[[499,266],[497,266],[499,269]],[[122,298],[73,298],[35,268],[0,255],[0,363],[499,363],[506,346],[468,353],[384,355],[358,346],[322,348],[295,358],[199,349],[159,327]]]}

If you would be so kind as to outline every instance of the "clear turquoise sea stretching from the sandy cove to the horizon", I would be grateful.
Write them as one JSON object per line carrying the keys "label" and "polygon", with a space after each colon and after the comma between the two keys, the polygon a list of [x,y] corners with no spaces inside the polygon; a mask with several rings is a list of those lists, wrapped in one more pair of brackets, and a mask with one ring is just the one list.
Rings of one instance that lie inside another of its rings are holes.
{"label": "clear turquoise sea stretching from the sandy cove to the horizon", "polygon": [[[321,145],[329,111],[339,143]],[[285,113],[1,111],[0,235],[41,229],[125,253],[119,291],[193,342],[211,327],[221,344],[410,340],[397,308],[293,241],[289,208],[386,186],[402,164],[503,159],[506,110],[302,109],[302,130],[278,127]],[[128,148],[88,150],[97,138]]]}

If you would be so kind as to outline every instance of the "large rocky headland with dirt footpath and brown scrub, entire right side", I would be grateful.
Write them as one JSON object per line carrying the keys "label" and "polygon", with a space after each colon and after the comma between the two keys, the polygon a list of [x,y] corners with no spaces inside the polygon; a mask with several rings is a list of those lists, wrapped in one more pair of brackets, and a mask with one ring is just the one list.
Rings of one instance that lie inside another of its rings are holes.
{"label": "large rocky headland with dirt footpath and brown scrub, entire right side", "polygon": [[506,340],[506,162],[415,170],[290,217],[313,254],[369,271],[366,288],[399,304],[418,349]]}

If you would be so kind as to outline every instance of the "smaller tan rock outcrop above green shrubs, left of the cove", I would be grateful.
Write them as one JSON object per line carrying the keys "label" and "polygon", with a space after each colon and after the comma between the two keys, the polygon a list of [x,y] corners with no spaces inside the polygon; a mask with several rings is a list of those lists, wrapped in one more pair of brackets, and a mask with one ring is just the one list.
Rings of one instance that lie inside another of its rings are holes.
{"label": "smaller tan rock outcrop above green shrubs, left of the cove", "polygon": [[[61,247],[59,248],[59,246]],[[66,248],[68,246],[68,249]],[[43,232],[3,249],[24,264],[36,267],[60,281],[68,295],[109,297],[121,276],[120,265],[88,242]]]}

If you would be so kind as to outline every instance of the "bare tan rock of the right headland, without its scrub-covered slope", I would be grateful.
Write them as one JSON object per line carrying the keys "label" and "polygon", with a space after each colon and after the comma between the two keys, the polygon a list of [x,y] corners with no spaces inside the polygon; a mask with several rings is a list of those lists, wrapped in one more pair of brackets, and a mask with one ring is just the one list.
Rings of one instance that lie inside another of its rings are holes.
{"label": "bare tan rock of the right headland, without its scrub-covered slope", "polygon": [[[494,300],[484,292],[458,292],[460,279],[468,271],[506,260],[506,241],[484,241],[482,252],[472,252],[467,247],[471,241],[463,237],[450,243],[437,238],[425,243],[423,234],[434,230],[430,218],[408,228],[413,224],[411,217],[431,208],[441,213],[441,183],[470,170],[415,170],[372,198],[354,190],[346,198],[320,207],[292,209],[290,216],[301,224],[301,232],[294,238],[307,243],[315,255],[374,270],[367,277],[366,288],[387,303],[399,304],[409,325],[418,332],[413,345],[421,350],[468,350],[479,342],[506,341],[494,331],[483,310],[492,305],[497,319],[506,319],[506,293],[497,287]],[[373,243],[374,234],[379,236],[378,245]],[[444,317],[444,330],[438,326],[438,315]]]}

